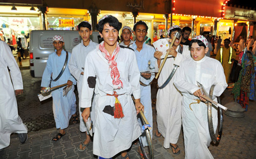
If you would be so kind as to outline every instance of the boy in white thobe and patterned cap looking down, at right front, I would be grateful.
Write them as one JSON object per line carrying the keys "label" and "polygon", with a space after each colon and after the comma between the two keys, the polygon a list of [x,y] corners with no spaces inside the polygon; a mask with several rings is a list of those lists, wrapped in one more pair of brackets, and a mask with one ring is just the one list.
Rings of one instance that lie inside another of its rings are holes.
{"label": "boy in white thobe and patterned cap looking down, at right front", "polygon": [[[214,158],[208,146],[211,138],[207,121],[207,105],[201,97],[197,82],[201,83],[207,92],[211,85],[216,85],[214,100],[226,89],[227,83],[221,63],[206,57],[208,42],[203,36],[197,36],[190,42],[192,59],[183,61],[175,78],[175,86],[182,97],[182,125],[184,131],[185,158]],[[201,100],[201,101],[200,101]],[[212,122],[216,131],[218,111],[212,107]]]}

